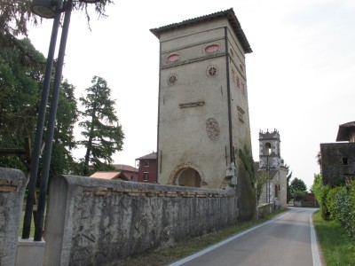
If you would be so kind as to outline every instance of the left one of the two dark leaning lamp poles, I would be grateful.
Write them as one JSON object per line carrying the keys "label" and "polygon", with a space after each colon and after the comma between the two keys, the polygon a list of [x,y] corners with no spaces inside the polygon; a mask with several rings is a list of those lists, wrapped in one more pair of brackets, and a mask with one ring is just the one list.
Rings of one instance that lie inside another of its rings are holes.
{"label": "left one of the two dark leaning lamp poles", "polygon": [[57,43],[58,28],[60,22],[59,9],[61,9],[62,3],[63,3],[62,0],[60,0],[57,3],[56,12],[53,20],[53,27],[51,29],[51,43],[50,43],[50,48],[48,50],[47,63],[45,66],[42,98],[41,98],[41,104],[39,108],[38,120],[36,125],[35,147],[32,153],[32,160],[31,160],[30,177],[28,182],[28,199],[26,202],[26,211],[25,211],[25,216],[23,221],[22,239],[29,239],[29,233],[31,231],[32,211],[35,202],[38,163],[39,163],[39,157],[41,156],[41,145],[42,145],[42,137],[43,137],[45,111],[47,107],[48,94],[50,90],[51,68],[53,66],[54,52]]}

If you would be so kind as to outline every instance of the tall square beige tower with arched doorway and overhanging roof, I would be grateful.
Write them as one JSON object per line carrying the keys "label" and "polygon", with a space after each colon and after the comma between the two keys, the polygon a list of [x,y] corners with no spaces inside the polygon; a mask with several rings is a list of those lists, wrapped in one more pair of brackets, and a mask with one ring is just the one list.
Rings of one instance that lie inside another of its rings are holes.
{"label": "tall square beige tower with arched doorway and overhanging roof", "polygon": [[[252,52],[233,9],[151,29],[160,41],[158,182],[249,186],[251,156],[245,55]],[[244,190],[245,191],[245,190]]]}

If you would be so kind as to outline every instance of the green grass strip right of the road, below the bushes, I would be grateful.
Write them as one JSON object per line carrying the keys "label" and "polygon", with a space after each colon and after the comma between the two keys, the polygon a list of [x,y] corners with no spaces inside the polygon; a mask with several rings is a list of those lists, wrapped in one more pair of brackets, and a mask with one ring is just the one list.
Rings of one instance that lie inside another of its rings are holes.
{"label": "green grass strip right of the road, below the bushes", "polygon": [[313,215],[313,224],[327,266],[354,265],[355,243],[340,224],[335,221],[324,221],[319,212]]}

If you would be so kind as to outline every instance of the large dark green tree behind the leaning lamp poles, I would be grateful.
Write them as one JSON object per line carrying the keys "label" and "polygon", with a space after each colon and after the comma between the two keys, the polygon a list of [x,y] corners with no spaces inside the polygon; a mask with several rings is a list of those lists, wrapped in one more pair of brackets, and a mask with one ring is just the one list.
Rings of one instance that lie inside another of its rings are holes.
{"label": "large dark green tree behind the leaning lamp poles", "polygon": [[[45,61],[43,54],[28,39],[18,40],[32,59]],[[15,47],[0,51],[0,147],[24,148],[24,138],[34,143],[36,119],[43,89],[43,64],[34,64]],[[73,168],[71,150],[75,148],[74,126],[78,111],[75,87],[62,82],[59,92],[50,176],[68,173]],[[51,102],[51,95],[50,101]],[[44,130],[46,127],[44,127]],[[45,137],[46,134],[44,134]],[[27,171],[21,156],[0,155],[0,166]],[[39,171],[40,172],[40,171]]]}

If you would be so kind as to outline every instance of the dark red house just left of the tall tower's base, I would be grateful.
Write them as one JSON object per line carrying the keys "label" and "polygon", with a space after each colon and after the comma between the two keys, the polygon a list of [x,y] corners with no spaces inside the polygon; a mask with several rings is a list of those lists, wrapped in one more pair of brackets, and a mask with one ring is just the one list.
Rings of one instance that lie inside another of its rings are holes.
{"label": "dark red house just left of the tall tower's base", "polygon": [[156,176],[156,153],[149,153],[139,157],[138,163],[138,182],[157,183]]}

